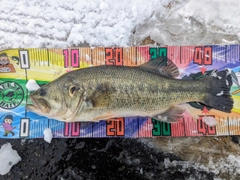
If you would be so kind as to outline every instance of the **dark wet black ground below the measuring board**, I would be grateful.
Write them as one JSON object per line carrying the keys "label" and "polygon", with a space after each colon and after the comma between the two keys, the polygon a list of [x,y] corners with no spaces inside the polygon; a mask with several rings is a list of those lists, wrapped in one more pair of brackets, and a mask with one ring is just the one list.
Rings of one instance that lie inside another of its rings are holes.
{"label": "dark wet black ground below the measuring board", "polygon": [[[0,140],[4,143],[7,140]],[[21,162],[9,179],[206,179],[213,173],[155,151],[136,139],[11,140]]]}

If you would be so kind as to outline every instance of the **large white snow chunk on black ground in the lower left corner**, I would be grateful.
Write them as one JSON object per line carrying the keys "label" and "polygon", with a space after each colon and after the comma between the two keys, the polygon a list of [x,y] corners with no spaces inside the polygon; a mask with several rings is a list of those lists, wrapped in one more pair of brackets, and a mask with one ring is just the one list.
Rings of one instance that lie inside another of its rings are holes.
{"label": "large white snow chunk on black ground in the lower left corner", "polygon": [[17,151],[12,149],[10,143],[2,145],[0,149],[0,174],[7,174],[12,166],[21,161],[21,159]]}

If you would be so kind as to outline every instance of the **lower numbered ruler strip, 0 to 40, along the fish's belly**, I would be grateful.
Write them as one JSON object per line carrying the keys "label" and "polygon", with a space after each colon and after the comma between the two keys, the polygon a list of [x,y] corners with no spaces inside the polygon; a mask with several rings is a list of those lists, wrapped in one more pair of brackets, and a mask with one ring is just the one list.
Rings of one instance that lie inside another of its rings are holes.
{"label": "lower numbered ruler strip, 0 to 40, along the fish's belly", "polygon": [[[116,121],[99,123],[63,123],[47,118],[31,122],[29,118],[23,118],[20,124],[20,137],[41,137],[45,128],[51,128],[56,137],[225,136],[239,135],[239,125],[238,119],[220,121],[217,126],[210,127],[203,122],[201,116],[197,120],[183,118],[178,123],[172,124],[151,118],[117,118]],[[238,133],[234,133],[235,131]]]}

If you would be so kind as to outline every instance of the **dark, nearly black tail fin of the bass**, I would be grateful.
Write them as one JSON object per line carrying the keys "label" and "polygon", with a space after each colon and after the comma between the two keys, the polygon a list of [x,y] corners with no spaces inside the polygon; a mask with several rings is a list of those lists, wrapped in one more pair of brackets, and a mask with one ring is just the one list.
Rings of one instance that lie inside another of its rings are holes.
{"label": "dark, nearly black tail fin of the bass", "polygon": [[205,78],[209,85],[204,97],[204,104],[214,109],[230,113],[233,108],[233,99],[230,95],[232,77],[229,70],[214,72]]}

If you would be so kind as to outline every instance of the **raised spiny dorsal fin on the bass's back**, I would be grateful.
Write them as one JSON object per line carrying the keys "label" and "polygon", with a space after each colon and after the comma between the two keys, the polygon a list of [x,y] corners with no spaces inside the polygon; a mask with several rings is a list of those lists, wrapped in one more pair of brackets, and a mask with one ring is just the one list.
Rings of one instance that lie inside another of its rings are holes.
{"label": "raised spiny dorsal fin on the bass's back", "polygon": [[161,56],[138,66],[141,69],[175,78],[179,75],[178,67],[167,57]]}

